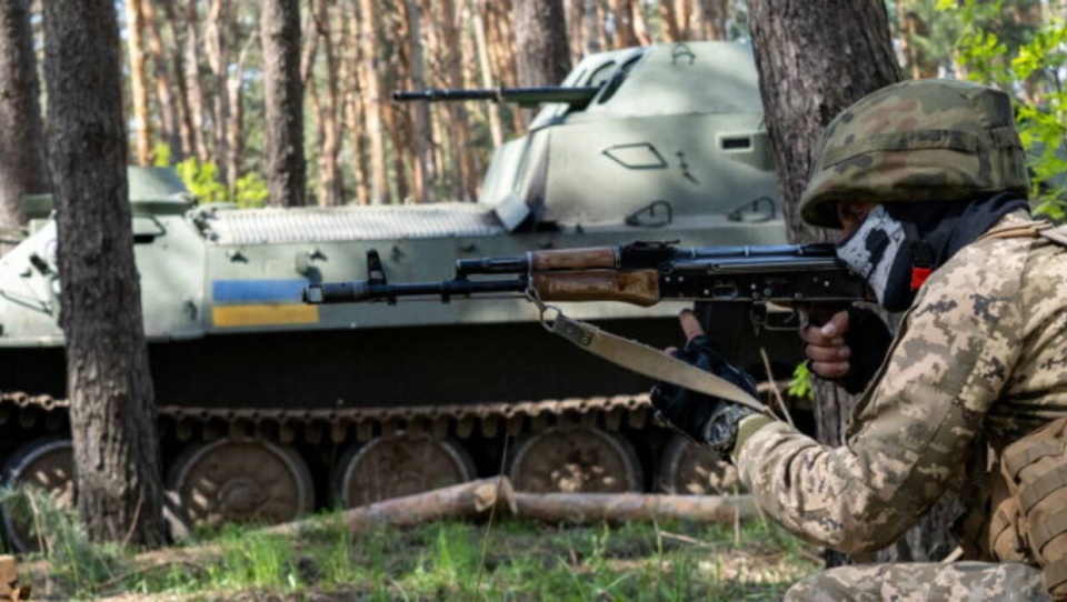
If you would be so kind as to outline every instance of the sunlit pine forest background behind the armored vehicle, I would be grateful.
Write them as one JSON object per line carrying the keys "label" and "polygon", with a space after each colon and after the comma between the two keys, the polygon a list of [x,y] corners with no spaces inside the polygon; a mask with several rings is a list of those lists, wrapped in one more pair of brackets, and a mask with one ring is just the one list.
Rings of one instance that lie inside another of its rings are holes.
{"label": "sunlit pine forest background behind the armored vehicle", "polygon": [[[38,53],[42,1],[29,4]],[[282,16],[299,21],[308,158],[306,197],[287,204],[475,200],[492,150],[523,132],[529,112],[490,102],[401,104],[391,92],[558,83],[521,81],[519,31],[566,32],[559,73],[602,50],[749,40],[739,0],[562,0],[562,14],[516,12],[517,3],[301,0],[299,13]],[[131,162],[176,165],[201,201],[267,204],[260,2],[120,4]],[[1063,0],[888,0],[887,9],[906,77],[970,78],[1013,91],[1029,123],[1036,180],[1067,171],[1051,153],[1065,136]],[[43,93],[41,101],[47,108]],[[1047,185],[1043,192],[1055,195]]]}

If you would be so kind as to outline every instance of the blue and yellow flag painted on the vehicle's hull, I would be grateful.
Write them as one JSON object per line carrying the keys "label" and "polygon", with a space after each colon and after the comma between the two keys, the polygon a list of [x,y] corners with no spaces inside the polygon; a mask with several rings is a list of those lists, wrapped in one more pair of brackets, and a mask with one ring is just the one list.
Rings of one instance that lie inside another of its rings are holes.
{"label": "blue and yellow flag painted on the vehicle's hull", "polygon": [[302,279],[212,281],[211,322],[219,328],[318,323],[318,305],[301,299],[307,283]]}

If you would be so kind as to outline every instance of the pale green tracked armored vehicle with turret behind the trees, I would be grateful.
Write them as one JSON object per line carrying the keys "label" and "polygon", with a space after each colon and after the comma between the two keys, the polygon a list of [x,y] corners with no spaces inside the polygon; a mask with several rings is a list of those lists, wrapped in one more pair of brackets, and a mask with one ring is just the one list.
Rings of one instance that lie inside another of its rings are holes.
{"label": "pale green tracked armored vehicle with turret behind the trees", "polygon": [[[706,490],[706,468],[650,424],[649,382],[547,335],[521,299],[301,302],[309,282],[366,279],[370,249],[420,281],[531,249],[784,241],[750,49],[605,52],[525,98],[542,108],[497,149],[476,203],[238,210],[196,204],[172,171],[130,170],[176,535],[501,471],[531,491]],[[9,484],[69,498],[62,283],[36,201],[0,259],[0,455]],[[680,308],[565,304],[654,345],[677,342]]]}

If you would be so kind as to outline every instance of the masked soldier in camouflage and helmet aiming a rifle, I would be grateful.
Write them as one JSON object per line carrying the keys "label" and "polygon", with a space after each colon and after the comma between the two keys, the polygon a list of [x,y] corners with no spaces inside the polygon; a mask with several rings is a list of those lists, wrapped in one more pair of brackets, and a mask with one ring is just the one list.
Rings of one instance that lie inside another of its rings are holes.
{"label": "masked soldier in camouflage and helmet aiming a rifle", "polygon": [[[816,374],[864,390],[844,444],[669,384],[654,389],[654,404],[731,458],[777,522],[849,554],[893,543],[945,491],[961,492],[963,561],[832,569],[787,600],[1063,595],[1067,574],[1053,565],[1067,568],[1067,550],[1046,558],[1058,553],[1046,542],[1061,541],[1067,522],[1018,505],[1018,480],[1006,484],[987,456],[1067,415],[1067,235],[1029,215],[1009,98],[951,80],[889,86],[841,112],[816,153],[801,217],[840,229],[838,257],[882,308],[906,310],[895,338],[857,309],[801,333]],[[681,322],[688,343],[676,357],[754,390],[708,349],[691,313]],[[1043,495],[1067,495],[1056,441]]]}

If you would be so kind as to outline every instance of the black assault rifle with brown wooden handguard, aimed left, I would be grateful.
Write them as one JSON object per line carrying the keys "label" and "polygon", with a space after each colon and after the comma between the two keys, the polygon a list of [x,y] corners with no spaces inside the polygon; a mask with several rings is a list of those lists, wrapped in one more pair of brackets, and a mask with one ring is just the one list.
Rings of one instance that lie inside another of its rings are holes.
{"label": "black assault rifle with brown wooden handguard, aimed left", "polygon": [[[367,252],[367,280],[312,283],[308,303],[386,301],[401,297],[453,298],[525,294],[552,301],[619,301],[640,307],[660,301],[752,303],[759,323],[768,304],[792,308],[784,327],[796,328],[796,310],[845,307],[869,299],[867,284],[841,264],[829,243],[680,248],[632,242],[531,251],[517,257],[461,259],[441,282],[389,283],[377,251]],[[788,325],[792,323],[792,325]],[[764,324],[774,328],[771,324]]]}

